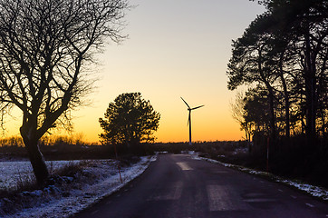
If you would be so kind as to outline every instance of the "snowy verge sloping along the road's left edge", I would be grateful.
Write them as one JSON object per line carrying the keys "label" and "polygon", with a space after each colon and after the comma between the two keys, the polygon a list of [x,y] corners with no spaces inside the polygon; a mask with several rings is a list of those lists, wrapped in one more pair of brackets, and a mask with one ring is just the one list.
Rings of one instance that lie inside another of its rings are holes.
{"label": "snowy verge sloping along the road's left edge", "polygon": [[[150,162],[153,161],[156,161],[156,156],[141,157],[139,163],[132,164],[129,167],[122,167],[122,183],[115,161],[94,161],[83,169],[83,173],[92,173],[98,176],[99,179],[97,179],[96,183],[76,185],[79,188],[70,190],[69,194],[62,194],[58,199],[53,198],[49,202],[44,202],[6,217],[69,217],[74,213],[82,211],[82,209],[92,203],[100,201],[101,198],[121,189],[125,184],[143,173]],[[57,191],[61,192],[60,189]]]}

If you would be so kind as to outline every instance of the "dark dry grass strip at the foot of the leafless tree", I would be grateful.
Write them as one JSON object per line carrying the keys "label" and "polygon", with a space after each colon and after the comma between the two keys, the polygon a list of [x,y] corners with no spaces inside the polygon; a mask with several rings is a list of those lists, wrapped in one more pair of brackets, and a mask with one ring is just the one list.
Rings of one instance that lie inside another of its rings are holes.
{"label": "dark dry grass strip at the foot of the leafless tree", "polygon": [[78,176],[88,164],[88,161],[81,161],[56,169],[51,166],[51,176],[42,187],[37,185],[33,175],[20,173],[14,188],[0,190],[0,217],[67,195],[74,182],[81,183],[82,177],[89,179],[85,175]]}

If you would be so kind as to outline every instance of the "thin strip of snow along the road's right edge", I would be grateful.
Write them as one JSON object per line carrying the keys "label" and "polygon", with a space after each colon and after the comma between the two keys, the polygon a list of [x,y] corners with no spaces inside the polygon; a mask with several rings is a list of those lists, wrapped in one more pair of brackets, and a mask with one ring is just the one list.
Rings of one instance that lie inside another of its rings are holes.
{"label": "thin strip of snow along the road's right edge", "polygon": [[300,181],[287,180],[285,178],[282,178],[282,177],[277,176],[277,175],[272,174],[272,173],[256,171],[254,169],[250,169],[250,168],[240,166],[240,165],[235,165],[235,164],[230,164],[230,163],[222,163],[222,162],[219,162],[217,160],[209,159],[209,158],[206,158],[206,157],[200,157],[198,155],[198,153],[189,153],[189,154],[191,155],[191,158],[193,158],[195,160],[205,160],[209,163],[218,163],[218,164],[221,164],[221,165],[224,165],[224,166],[227,166],[227,167],[230,167],[230,168],[234,168],[234,169],[237,169],[239,171],[246,172],[246,173],[263,175],[263,176],[269,177],[272,180],[274,180],[275,182],[288,184],[290,186],[293,186],[293,187],[297,188],[298,190],[301,190],[305,193],[309,193],[314,197],[319,197],[319,198],[323,199],[324,201],[328,201],[328,190],[323,188],[323,187],[314,186],[312,184],[303,183],[303,182],[300,182]]}

